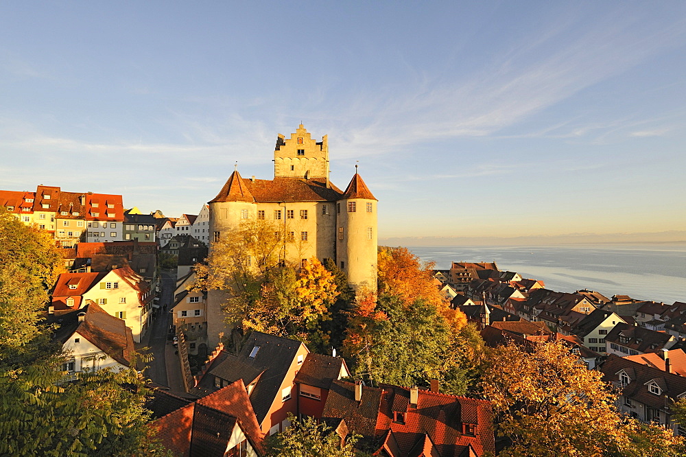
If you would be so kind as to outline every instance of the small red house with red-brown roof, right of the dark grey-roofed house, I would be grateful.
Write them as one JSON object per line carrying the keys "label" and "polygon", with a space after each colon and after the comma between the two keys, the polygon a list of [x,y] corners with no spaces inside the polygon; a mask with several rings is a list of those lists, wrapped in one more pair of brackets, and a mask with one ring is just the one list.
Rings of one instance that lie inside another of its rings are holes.
{"label": "small red house with red-brown roof, right of the dark grey-roofed house", "polygon": [[322,417],[331,383],[350,375],[342,358],[308,353],[294,379],[298,396],[296,416]]}

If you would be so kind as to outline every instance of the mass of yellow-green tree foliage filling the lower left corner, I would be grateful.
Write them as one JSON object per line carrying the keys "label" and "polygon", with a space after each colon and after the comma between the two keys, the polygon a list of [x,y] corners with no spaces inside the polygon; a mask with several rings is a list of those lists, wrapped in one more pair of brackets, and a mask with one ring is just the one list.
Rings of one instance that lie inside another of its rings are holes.
{"label": "mass of yellow-green tree foliage filling the lower left corner", "polygon": [[60,382],[65,354],[40,312],[61,260],[43,233],[0,209],[0,454],[147,452],[147,391],[134,368]]}

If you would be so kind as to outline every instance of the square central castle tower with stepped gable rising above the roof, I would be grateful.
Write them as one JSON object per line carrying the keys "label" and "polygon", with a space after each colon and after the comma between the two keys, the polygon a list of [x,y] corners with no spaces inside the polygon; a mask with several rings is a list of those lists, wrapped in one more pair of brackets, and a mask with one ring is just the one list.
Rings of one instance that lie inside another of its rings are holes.
{"label": "square central castle tower with stepped gable rising above the roof", "polygon": [[329,179],[329,144],[327,135],[318,142],[311,138],[303,124],[285,139],[276,138],[274,178]]}

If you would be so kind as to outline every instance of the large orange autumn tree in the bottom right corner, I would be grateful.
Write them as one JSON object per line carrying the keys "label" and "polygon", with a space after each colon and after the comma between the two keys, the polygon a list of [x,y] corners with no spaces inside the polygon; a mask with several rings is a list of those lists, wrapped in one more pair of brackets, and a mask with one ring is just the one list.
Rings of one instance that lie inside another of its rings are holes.
{"label": "large orange autumn tree in the bottom right corner", "polygon": [[502,455],[680,455],[683,441],[671,430],[617,412],[601,377],[560,341],[494,349],[482,389],[499,434],[512,440]]}

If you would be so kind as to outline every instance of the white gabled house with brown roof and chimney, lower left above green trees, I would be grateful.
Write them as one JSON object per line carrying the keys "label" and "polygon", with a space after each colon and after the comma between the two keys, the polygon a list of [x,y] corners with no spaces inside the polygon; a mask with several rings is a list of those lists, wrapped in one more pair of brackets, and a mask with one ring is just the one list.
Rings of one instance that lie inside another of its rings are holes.
{"label": "white gabled house with brown roof and chimney, lower left above green trees", "polygon": [[119,371],[133,361],[131,329],[93,301],[87,301],[80,309],[50,309],[46,323],[60,325],[54,339],[68,354],[63,368],[70,375],[102,368]]}

